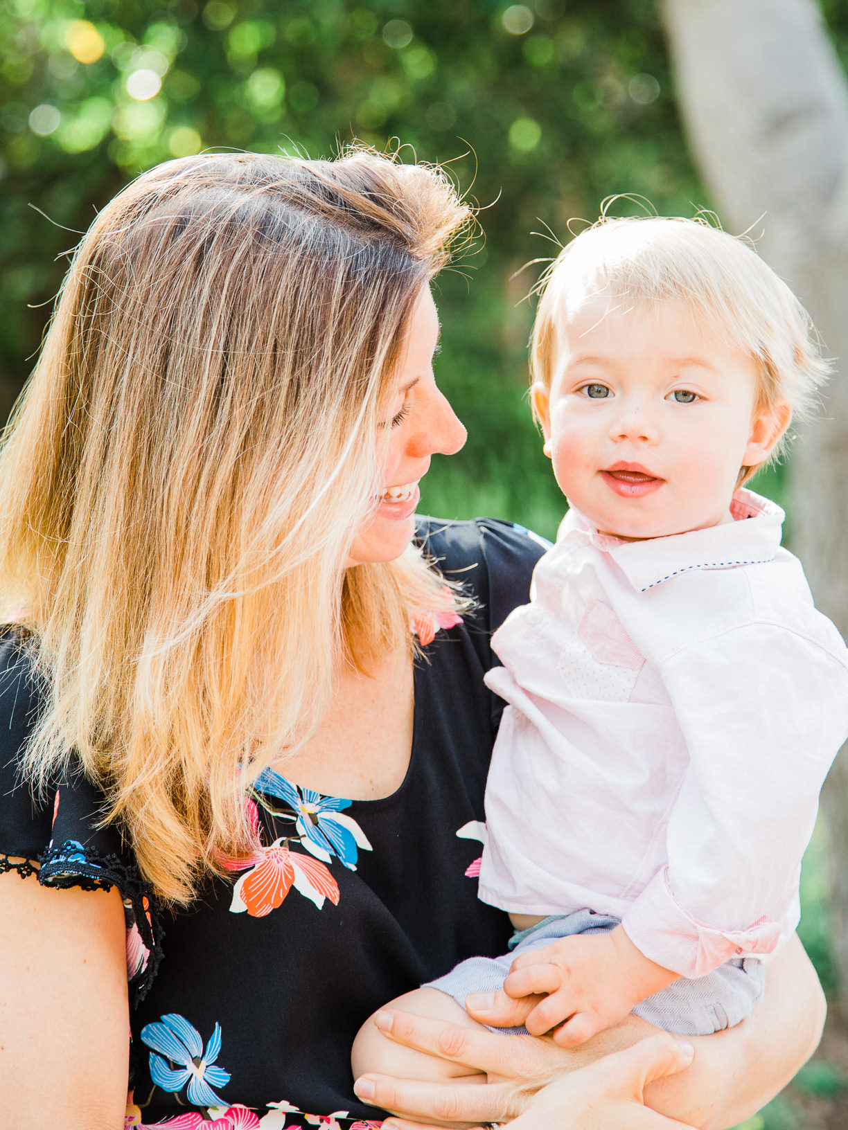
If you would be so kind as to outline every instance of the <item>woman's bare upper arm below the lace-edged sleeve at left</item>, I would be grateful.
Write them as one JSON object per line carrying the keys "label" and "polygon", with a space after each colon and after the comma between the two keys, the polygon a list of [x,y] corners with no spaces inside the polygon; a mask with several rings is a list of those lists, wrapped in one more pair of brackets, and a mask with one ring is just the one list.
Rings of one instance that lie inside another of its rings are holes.
{"label": "woman's bare upper arm below the lace-edged sleeve at left", "polygon": [[121,1130],[128,1070],[119,892],[0,875],[0,1130]]}

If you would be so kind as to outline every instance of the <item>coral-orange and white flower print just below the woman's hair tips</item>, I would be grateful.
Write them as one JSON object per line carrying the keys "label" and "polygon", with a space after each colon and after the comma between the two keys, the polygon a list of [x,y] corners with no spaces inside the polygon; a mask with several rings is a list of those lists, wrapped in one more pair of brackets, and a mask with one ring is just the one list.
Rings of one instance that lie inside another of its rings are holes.
{"label": "coral-orange and white flower print just below the woman's hair tips", "polygon": [[338,905],[338,884],[329,869],[311,855],[289,851],[288,841],[283,837],[275,840],[270,847],[262,846],[256,801],[249,800],[245,807],[251,828],[251,854],[245,860],[224,862],[231,870],[250,870],[235,884],[230,910],[234,914],[246,911],[252,918],[265,918],[282,905],[292,887],[319,910],[327,898]]}

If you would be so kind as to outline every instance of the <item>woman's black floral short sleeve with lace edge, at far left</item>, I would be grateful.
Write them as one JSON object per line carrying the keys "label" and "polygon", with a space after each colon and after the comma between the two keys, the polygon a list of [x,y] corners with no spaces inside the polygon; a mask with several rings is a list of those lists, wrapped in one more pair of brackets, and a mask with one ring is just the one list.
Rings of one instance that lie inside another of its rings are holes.
{"label": "woman's black floral short sleeve with lace edge, at far left", "polygon": [[25,640],[0,635],[0,872],[37,875],[44,887],[118,887],[127,920],[127,976],[140,1000],[162,956],[161,907],[114,825],[99,827],[103,793],[71,762],[42,791],[24,781],[20,758],[42,696]]}

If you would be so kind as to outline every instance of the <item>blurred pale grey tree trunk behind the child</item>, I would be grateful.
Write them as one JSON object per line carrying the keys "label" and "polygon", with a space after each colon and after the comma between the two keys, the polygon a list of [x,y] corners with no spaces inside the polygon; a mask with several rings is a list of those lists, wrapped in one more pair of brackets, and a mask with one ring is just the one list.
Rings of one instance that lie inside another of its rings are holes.
{"label": "blurred pale grey tree trunk behind the child", "polygon": [[[680,105],[724,226],[758,250],[842,359],[798,436],[793,548],[848,636],[848,84],[812,0],[663,0]],[[760,233],[762,238],[759,240]],[[833,953],[848,1017],[848,745],[824,789]]]}

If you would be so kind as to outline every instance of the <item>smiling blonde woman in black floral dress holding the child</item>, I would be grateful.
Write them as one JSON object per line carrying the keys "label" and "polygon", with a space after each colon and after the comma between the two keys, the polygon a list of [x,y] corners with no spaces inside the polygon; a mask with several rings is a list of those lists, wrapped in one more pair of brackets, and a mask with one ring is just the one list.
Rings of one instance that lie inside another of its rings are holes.
{"label": "smiling blonde woman in black floral dress holding the child", "polygon": [[413,540],[465,438],[429,284],[468,220],[438,171],[228,155],[81,242],[0,457],[2,1130],[720,1127],[814,1048],[796,942],[694,1059],[632,1017],[565,1052],[390,1014],[493,1081],[354,1094],[374,1008],[509,935],[483,675],[542,550]]}

